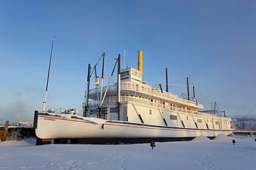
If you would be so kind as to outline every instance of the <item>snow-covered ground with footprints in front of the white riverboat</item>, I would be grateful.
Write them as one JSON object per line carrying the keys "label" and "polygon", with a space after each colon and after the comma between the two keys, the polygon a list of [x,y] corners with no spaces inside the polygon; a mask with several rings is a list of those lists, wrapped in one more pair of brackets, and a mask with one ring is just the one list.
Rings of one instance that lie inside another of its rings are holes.
{"label": "snow-covered ground with footprints in front of the white riverboat", "polygon": [[[236,144],[232,145],[232,139]],[[189,142],[136,145],[44,145],[35,139],[0,142],[0,169],[255,169],[249,136],[198,137]]]}

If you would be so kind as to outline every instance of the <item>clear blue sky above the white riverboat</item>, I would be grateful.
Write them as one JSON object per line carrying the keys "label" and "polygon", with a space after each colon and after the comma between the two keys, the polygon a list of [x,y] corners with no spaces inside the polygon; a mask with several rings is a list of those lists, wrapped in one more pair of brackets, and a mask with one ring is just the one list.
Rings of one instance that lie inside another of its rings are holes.
{"label": "clear blue sky above the white riverboat", "polygon": [[[0,0],[0,120],[32,121],[42,110],[53,36],[46,109],[81,114],[88,63],[125,50],[125,66],[137,67],[143,50],[145,81],[164,83],[168,67],[170,84],[188,76],[228,116],[255,115],[255,9],[256,1]],[[186,93],[177,87],[170,92]]]}

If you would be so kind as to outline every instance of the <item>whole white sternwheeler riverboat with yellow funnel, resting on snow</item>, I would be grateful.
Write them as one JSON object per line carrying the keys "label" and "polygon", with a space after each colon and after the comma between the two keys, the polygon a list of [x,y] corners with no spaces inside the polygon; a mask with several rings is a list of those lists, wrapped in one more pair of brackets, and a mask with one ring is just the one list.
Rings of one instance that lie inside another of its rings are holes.
{"label": "whole white sternwheeler riverboat with yellow funnel, resting on snow", "polygon": [[[139,52],[140,53],[140,52]],[[141,56],[142,57],[142,56]],[[118,58],[120,59],[120,58]],[[83,116],[37,115],[39,138],[97,138],[169,141],[232,134],[231,118],[200,112],[203,105],[143,82],[141,68],[119,70],[119,81],[86,92]],[[139,71],[141,70],[141,71]],[[95,79],[99,85],[100,78]],[[101,79],[102,81],[102,79]],[[119,94],[119,95],[118,95]]]}

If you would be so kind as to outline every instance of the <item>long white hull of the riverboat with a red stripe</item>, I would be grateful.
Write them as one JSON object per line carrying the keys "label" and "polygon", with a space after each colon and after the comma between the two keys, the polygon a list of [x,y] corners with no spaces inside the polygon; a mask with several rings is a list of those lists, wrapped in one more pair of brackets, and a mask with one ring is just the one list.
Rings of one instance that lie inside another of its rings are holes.
{"label": "long white hull of the riverboat with a red stripe", "polygon": [[[101,118],[67,118],[38,115],[36,134],[38,138],[81,138],[84,143],[111,142],[159,142],[190,140],[196,136],[214,138],[219,134],[230,135],[232,129],[192,129],[145,125]],[[87,142],[86,142],[87,141]],[[93,142],[94,141],[94,142]],[[105,142],[104,142],[105,141]]]}

